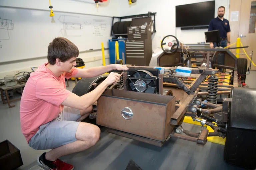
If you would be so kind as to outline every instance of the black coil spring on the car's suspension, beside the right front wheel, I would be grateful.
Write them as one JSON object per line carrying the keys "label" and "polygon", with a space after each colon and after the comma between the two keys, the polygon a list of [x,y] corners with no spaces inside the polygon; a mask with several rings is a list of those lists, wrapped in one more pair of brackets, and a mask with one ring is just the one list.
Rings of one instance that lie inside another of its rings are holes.
{"label": "black coil spring on the car's suspension, beside the right front wheel", "polygon": [[217,93],[218,93],[218,80],[217,76],[210,76],[208,78],[208,95],[207,101],[210,103],[217,104]]}

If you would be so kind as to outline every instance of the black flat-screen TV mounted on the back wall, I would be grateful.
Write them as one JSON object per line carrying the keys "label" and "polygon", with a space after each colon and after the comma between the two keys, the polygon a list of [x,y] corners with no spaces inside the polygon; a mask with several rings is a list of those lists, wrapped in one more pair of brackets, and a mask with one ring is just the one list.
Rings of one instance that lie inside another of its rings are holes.
{"label": "black flat-screen TV mounted on the back wall", "polygon": [[215,1],[176,6],[176,27],[209,25],[214,18]]}

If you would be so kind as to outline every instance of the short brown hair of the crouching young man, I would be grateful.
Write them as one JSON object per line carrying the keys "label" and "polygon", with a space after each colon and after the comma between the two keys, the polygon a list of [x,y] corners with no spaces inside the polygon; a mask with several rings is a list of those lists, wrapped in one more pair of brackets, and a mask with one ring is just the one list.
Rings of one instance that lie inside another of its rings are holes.
{"label": "short brown hair of the crouching young man", "polygon": [[72,57],[78,57],[79,50],[77,46],[66,38],[58,37],[53,39],[48,46],[47,59],[51,65],[56,64],[56,59],[61,62],[67,61]]}

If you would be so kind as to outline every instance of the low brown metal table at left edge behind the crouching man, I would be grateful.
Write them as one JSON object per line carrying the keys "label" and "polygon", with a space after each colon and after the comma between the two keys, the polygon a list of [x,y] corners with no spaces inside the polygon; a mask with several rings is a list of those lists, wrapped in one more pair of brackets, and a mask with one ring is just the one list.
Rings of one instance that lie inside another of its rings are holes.
{"label": "low brown metal table at left edge behind the crouching man", "polygon": [[[10,87],[6,87],[6,85],[0,86],[1,98],[2,98],[3,104],[8,103],[9,108],[13,108],[15,105],[11,105],[10,102],[14,102],[14,101],[20,100],[21,98],[9,100],[8,90],[20,88],[21,94],[22,94],[22,92],[23,92],[22,88],[25,87],[25,85],[26,85],[26,83],[17,84],[16,86],[10,86]],[[4,99],[4,94],[3,94],[4,91],[5,91],[7,102]]]}

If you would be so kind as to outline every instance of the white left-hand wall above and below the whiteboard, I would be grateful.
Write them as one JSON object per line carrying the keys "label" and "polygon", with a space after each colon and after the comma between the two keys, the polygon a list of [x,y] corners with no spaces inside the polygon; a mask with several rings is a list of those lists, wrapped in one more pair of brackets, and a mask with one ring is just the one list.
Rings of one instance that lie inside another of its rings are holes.
{"label": "white left-hand wall above and below the whiteboard", "polygon": [[[89,0],[52,0],[51,5],[53,6],[53,12],[74,12],[74,13],[84,13],[91,15],[102,15],[102,16],[120,16],[119,0],[111,0],[106,3],[99,3],[99,8],[96,8],[96,4],[86,3]],[[48,0],[1,0],[0,6],[7,7],[18,7],[18,8],[30,8],[38,10],[49,10]],[[113,10],[114,9],[114,10]],[[99,42],[100,43],[100,42]],[[107,44],[105,44],[107,46]],[[14,50],[14,49],[10,49]],[[105,50],[106,64],[109,64],[109,51]],[[1,56],[4,57],[4,56]],[[79,57],[86,62],[86,68],[92,66],[102,65],[102,53],[101,51],[90,51],[85,53],[80,53]],[[46,56],[40,56],[39,59],[24,60],[18,62],[4,62],[0,63],[0,80],[3,79],[8,74],[13,74],[18,71],[29,71],[30,67],[37,67],[44,62],[47,62]]]}

